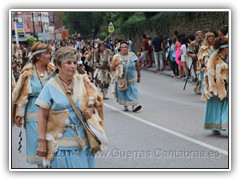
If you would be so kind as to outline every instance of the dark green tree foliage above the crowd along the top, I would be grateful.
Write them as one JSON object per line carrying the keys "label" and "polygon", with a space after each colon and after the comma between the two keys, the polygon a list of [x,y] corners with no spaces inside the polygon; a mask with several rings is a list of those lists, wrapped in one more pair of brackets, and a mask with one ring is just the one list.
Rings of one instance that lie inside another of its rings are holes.
{"label": "dark green tree foliage above the crowd along the top", "polygon": [[[221,26],[228,23],[227,12],[190,12],[190,11],[163,11],[163,12],[64,12],[60,19],[70,34],[80,33],[82,37],[89,38],[100,35],[103,38],[108,33],[108,25],[110,22],[114,25],[115,34],[123,34],[125,36],[133,36],[136,33],[147,33],[159,31],[167,33],[170,27],[181,26],[182,22],[189,24],[198,24],[199,18],[214,17],[214,23]],[[182,26],[184,24],[182,23]],[[190,26],[182,27],[182,29],[191,28]]]}

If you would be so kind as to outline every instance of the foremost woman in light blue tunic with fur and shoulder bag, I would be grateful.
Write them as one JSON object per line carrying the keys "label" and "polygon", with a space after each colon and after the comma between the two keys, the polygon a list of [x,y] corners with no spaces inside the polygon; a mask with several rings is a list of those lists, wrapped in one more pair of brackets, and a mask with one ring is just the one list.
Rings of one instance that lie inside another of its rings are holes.
{"label": "foremost woman in light blue tunic with fur and shoulder bag", "polygon": [[[39,106],[37,154],[44,157],[44,167],[95,168],[85,129],[66,93],[84,119],[98,113],[102,122],[103,100],[86,74],[75,74],[77,59],[77,50],[72,47],[62,47],[56,52],[58,74],[46,84],[36,101]],[[89,94],[95,94],[92,101],[98,104],[96,112],[92,106],[86,106]]]}

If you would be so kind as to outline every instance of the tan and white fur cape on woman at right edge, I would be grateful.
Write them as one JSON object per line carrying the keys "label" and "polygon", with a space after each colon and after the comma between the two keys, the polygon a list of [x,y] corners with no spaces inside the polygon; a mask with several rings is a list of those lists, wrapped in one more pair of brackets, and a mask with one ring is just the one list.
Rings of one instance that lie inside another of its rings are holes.
{"label": "tan and white fur cape on woman at right edge", "polygon": [[213,96],[220,100],[228,96],[228,64],[217,54],[213,54],[207,63],[207,71],[204,75],[206,90],[201,99],[207,101]]}

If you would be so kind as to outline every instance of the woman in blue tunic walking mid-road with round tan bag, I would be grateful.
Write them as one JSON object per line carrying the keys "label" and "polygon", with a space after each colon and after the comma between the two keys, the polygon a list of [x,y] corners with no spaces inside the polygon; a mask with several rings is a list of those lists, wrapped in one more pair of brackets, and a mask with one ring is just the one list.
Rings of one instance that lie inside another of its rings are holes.
{"label": "woman in blue tunic walking mid-road with round tan bag", "polygon": [[132,106],[132,111],[137,112],[142,108],[142,106],[139,104],[137,87],[137,83],[140,83],[141,77],[138,58],[134,52],[128,51],[128,44],[125,41],[120,43],[120,50],[121,52],[119,54],[116,54],[115,56],[120,55],[121,61],[117,61],[115,62],[115,64],[111,64],[111,70],[115,71],[120,64],[122,65],[123,68],[122,78],[124,78],[126,75],[127,89],[124,91],[118,90],[117,87],[118,79],[116,78],[115,96],[117,102],[120,105],[124,106],[124,111],[128,111],[129,110],[128,106]]}

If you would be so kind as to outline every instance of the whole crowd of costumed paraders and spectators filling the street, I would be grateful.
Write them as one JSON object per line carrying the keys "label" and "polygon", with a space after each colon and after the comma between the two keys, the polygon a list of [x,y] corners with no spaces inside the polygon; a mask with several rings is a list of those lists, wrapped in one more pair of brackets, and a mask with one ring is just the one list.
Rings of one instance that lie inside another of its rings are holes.
{"label": "whole crowd of costumed paraders and spectators filling the street", "polygon": [[[131,107],[138,112],[142,68],[191,77],[194,92],[207,101],[205,129],[215,134],[227,130],[227,33],[223,26],[218,34],[142,34],[139,45],[131,38],[36,42],[30,50],[12,44],[12,123],[26,129],[27,162],[43,168],[44,158],[51,157],[52,168],[94,168],[86,132],[72,106],[85,120],[94,116],[103,126],[103,101],[111,91],[124,111]],[[96,109],[83,106],[86,98],[94,98]],[[55,158],[57,154],[61,157]]]}

